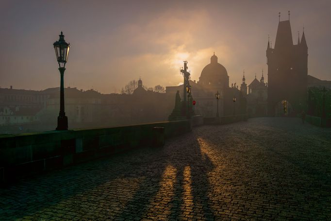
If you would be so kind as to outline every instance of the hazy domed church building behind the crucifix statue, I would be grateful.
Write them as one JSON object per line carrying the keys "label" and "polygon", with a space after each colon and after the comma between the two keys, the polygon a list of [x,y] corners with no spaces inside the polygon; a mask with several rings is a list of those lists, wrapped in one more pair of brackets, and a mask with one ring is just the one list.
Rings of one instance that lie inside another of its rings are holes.
{"label": "hazy domed church building behind the crucifix statue", "polygon": [[[192,97],[196,101],[194,112],[197,115],[202,115],[205,118],[215,118],[217,110],[217,100],[215,93],[220,94],[218,101],[219,116],[227,116],[233,114],[243,114],[246,111],[246,99],[240,90],[234,85],[229,87],[229,75],[226,68],[218,63],[218,58],[212,55],[210,64],[207,64],[201,71],[199,81],[189,80],[192,87]],[[183,85],[167,86],[167,97],[172,99],[172,108],[175,106],[176,92],[180,91],[180,97],[183,98]],[[236,102],[233,102],[233,97]]]}

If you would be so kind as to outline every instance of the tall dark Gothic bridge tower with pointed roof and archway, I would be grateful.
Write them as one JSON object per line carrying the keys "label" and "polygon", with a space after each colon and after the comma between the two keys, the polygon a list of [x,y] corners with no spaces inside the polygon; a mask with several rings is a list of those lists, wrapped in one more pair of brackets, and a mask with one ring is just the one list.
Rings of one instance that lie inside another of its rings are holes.
{"label": "tall dark Gothic bridge tower with pointed roof and archway", "polygon": [[276,116],[283,101],[287,101],[294,116],[302,111],[307,100],[308,47],[304,32],[293,44],[290,20],[279,21],[274,48],[268,40],[268,116]]}

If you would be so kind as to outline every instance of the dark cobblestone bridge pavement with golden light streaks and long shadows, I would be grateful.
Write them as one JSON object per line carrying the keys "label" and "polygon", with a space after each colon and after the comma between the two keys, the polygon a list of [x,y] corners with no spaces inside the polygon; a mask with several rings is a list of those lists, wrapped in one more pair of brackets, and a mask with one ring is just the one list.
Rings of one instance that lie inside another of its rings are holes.
{"label": "dark cobblestone bridge pavement with golden light streaks and long shadows", "polygon": [[331,129],[201,126],[0,189],[0,220],[331,220]]}

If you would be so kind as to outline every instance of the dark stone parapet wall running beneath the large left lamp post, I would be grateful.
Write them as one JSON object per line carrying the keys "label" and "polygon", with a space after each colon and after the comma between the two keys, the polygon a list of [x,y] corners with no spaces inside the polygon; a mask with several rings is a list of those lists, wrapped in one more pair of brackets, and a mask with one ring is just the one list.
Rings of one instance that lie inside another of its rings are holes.
{"label": "dark stone parapet wall running beneath the large left lamp post", "polygon": [[190,120],[178,120],[113,128],[2,135],[0,183],[132,148],[151,146],[153,127],[164,127],[164,137],[169,138],[191,131],[192,123]]}

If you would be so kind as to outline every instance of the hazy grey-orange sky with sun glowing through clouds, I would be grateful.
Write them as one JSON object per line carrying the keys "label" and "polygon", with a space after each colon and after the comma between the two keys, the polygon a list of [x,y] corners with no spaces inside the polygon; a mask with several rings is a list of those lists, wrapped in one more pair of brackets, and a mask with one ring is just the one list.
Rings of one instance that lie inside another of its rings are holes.
{"label": "hazy grey-orange sky with sun glowing through clouds", "polygon": [[305,27],[308,74],[331,80],[330,0],[1,0],[0,87],[59,86],[52,44],[61,31],[71,45],[65,86],[118,93],[139,76],[178,85],[183,60],[199,80],[214,51],[230,85],[243,69],[248,84],[262,68],[267,80],[268,34],[274,43],[288,10],[295,43]]}

